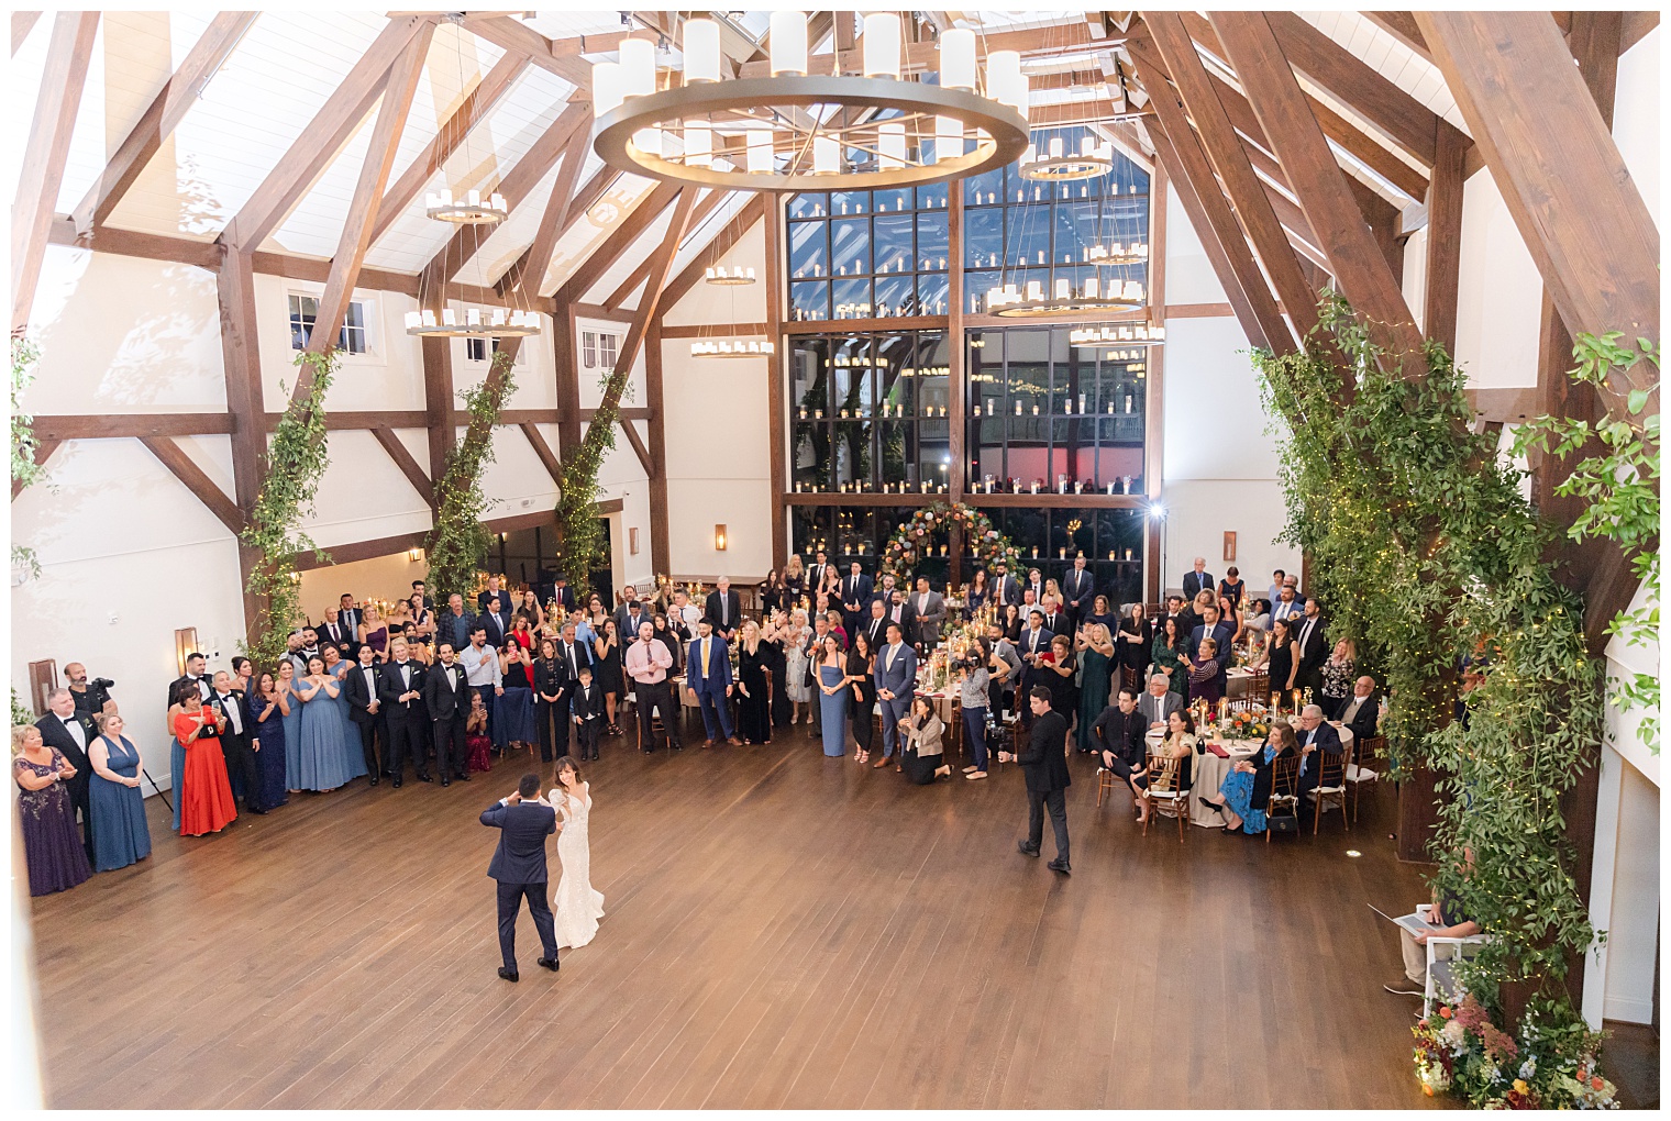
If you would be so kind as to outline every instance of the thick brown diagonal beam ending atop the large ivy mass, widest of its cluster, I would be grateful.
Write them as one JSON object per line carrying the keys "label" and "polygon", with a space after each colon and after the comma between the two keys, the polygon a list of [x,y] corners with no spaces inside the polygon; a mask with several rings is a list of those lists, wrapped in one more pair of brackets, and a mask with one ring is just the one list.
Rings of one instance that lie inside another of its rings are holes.
{"label": "thick brown diagonal beam ending atop the large ivy mass, widest of its cluster", "polygon": [[1402,277],[1370,232],[1265,15],[1215,12],[1211,20],[1307,221],[1323,241],[1340,291],[1390,361],[1410,374],[1425,373],[1422,336],[1404,302]]}

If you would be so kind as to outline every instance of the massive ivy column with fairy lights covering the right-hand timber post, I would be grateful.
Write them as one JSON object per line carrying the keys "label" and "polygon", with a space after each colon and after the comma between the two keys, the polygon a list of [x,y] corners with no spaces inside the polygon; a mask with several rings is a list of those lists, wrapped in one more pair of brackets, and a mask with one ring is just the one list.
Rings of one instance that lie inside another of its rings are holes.
{"label": "massive ivy column with fairy lights covering the right-hand timber post", "polygon": [[[1355,374],[1350,399],[1318,358],[1253,356],[1283,429],[1283,540],[1310,553],[1332,637],[1382,672],[1399,768],[1439,775],[1437,884],[1491,936],[1470,987],[1496,999],[1526,982],[1546,1014],[1572,1017],[1566,954],[1596,934],[1561,795],[1602,730],[1582,605],[1544,561],[1552,533],[1521,473],[1469,429],[1465,378],[1444,347],[1429,342],[1427,376],[1409,379],[1345,301],[1328,294],[1320,311],[1318,334]],[[1452,720],[1459,698],[1465,723]]]}

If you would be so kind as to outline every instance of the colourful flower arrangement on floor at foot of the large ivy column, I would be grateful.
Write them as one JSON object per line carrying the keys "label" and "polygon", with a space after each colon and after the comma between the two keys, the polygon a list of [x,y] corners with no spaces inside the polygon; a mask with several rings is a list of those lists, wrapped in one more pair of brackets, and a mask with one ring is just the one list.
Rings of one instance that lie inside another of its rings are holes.
{"label": "colourful flower arrangement on floor at foot of the large ivy column", "polygon": [[1472,996],[1442,1004],[1415,1027],[1422,1093],[1450,1093],[1477,1109],[1618,1109],[1596,1069],[1602,1032],[1571,1016],[1527,1011],[1519,1039],[1499,1031]]}

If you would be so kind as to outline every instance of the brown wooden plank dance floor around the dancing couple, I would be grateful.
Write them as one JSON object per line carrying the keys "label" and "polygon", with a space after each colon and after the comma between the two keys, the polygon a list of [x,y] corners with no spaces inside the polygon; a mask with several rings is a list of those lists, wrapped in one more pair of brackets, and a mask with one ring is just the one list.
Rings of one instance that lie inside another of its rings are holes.
{"label": "brown wooden plank dance floor around the dancing couple", "polygon": [[[1073,877],[1016,854],[1021,774],[912,787],[759,748],[590,767],[592,946],[495,976],[476,815],[363,782],[35,900],[58,1108],[1412,1108],[1387,996],[1422,897],[1394,795],[1342,835],[1145,839],[1074,757]],[[625,743],[625,745],[623,745]],[[1347,849],[1362,850],[1360,859]],[[1053,855],[1046,829],[1044,859]],[[555,872],[555,854],[553,854]],[[553,884],[555,887],[555,884]],[[1397,909],[1397,910],[1394,910]]]}

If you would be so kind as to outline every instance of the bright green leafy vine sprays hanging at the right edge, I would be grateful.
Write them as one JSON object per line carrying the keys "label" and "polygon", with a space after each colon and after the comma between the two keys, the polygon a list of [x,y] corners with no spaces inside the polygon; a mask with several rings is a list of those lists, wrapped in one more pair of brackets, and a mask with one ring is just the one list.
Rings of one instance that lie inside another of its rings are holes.
{"label": "bright green leafy vine sprays hanging at the right edge", "polygon": [[[1616,541],[1631,558],[1636,578],[1646,585],[1646,603],[1636,610],[1619,611],[1608,623],[1608,633],[1618,635],[1629,647],[1643,647],[1659,638],[1659,413],[1648,413],[1648,403],[1658,391],[1631,388],[1626,393],[1611,389],[1616,373],[1623,374],[1641,361],[1659,369],[1659,347],[1649,339],[1638,339],[1639,349],[1619,346],[1623,332],[1606,336],[1581,334],[1572,344],[1577,368],[1572,381],[1596,386],[1614,398],[1608,419],[1589,423],[1571,418],[1539,416],[1522,424],[1514,434],[1516,454],[1537,448],[1564,459],[1584,448],[1596,446],[1601,454],[1591,454],[1574,464],[1571,474],[1556,486],[1556,495],[1577,496],[1586,501],[1584,511],[1567,530],[1567,536],[1582,541],[1589,536]],[[1623,378],[1621,378],[1623,381]],[[1629,384],[1629,383],[1626,383]],[[1619,399],[1623,398],[1623,401]],[[1654,755],[1659,753],[1659,677],[1633,673],[1613,688],[1613,705],[1619,712],[1641,708],[1646,715],[1636,727],[1638,738]]]}

